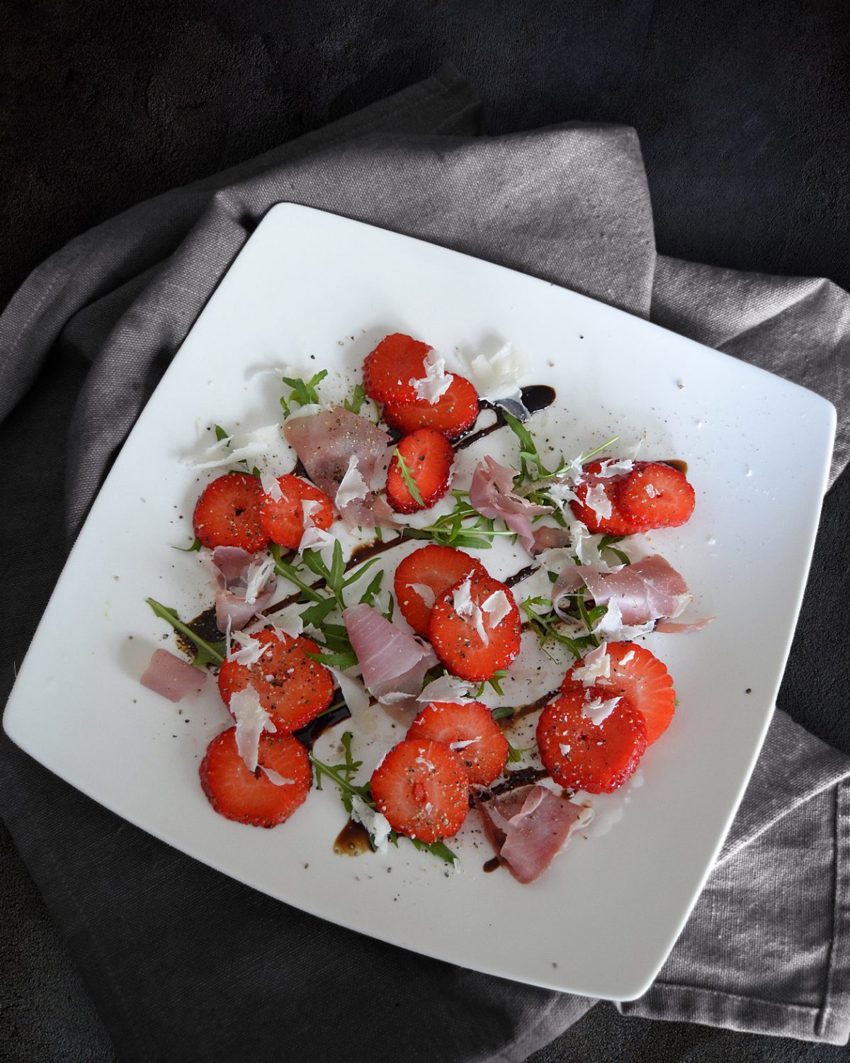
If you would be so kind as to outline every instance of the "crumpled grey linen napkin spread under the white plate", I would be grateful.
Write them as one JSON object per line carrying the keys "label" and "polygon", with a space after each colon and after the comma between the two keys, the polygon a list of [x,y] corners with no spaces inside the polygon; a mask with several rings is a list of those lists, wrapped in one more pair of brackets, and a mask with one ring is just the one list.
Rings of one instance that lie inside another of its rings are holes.
{"label": "crumpled grey linen napkin spread under the white plate", "polygon": [[[657,255],[632,130],[479,132],[474,94],[443,69],[142,203],[37,269],[0,318],[0,438],[38,453],[47,419],[65,423],[73,404],[64,470],[55,449],[41,462],[48,488],[64,471],[67,534],[79,530],[218,279],[282,200],[547,279],[813,387],[838,407],[838,474],[850,459],[845,292]],[[15,409],[41,367],[39,388]],[[10,476],[21,477],[15,487],[26,483],[17,469]],[[21,539],[32,505],[8,516]],[[56,507],[40,505],[58,555]],[[18,656],[57,567],[47,564],[34,608],[12,632]],[[684,933],[658,982],[624,1012],[848,1039],[849,778],[850,758],[777,713]],[[415,957],[254,894],[120,823],[5,739],[0,810],[122,1059],[268,1054],[283,1022],[298,1058],[332,1058],[344,1028],[356,1034],[350,1057],[518,1061],[593,1003]],[[392,1036],[369,1018],[375,999],[395,1006]]]}

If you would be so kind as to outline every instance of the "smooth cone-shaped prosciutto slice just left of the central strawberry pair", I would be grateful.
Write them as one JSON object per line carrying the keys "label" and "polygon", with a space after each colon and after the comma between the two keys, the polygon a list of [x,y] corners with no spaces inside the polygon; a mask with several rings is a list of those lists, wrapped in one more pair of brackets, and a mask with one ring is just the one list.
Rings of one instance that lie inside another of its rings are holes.
{"label": "smooth cone-shaped prosciutto slice just left of the central strawberry pair", "polygon": [[422,691],[425,673],[437,663],[429,645],[403,631],[370,605],[342,613],[367,689],[378,699],[400,701]]}

